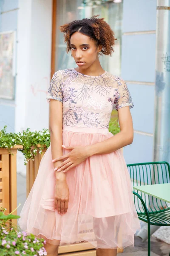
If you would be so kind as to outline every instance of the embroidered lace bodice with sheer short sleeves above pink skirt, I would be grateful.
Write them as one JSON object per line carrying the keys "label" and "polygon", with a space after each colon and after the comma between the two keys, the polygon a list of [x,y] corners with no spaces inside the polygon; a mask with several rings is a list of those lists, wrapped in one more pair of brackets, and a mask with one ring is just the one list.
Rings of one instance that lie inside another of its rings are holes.
{"label": "embroidered lace bodice with sheer short sleeves above pink skirt", "polygon": [[48,101],[62,102],[62,124],[86,128],[108,128],[113,106],[133,107],[125,81],[105,71],[88,76],[74,68],[54,73]]}

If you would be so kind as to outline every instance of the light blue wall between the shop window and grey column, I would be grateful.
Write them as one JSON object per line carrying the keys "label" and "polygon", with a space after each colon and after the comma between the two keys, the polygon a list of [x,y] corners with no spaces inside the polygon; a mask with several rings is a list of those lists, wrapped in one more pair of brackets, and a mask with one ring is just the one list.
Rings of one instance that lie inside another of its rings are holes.
{"label": "light blue wall between the shop window and grey column", "polygon": [[156,1],[124,0],[122,78],[134,102],[134,140],[124,148],[126,163],[153,160]]}

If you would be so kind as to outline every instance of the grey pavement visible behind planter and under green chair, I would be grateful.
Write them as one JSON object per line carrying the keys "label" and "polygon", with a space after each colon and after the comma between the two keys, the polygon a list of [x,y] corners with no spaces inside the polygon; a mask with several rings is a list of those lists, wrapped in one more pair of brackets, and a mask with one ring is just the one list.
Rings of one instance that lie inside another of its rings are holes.
{"label": "grey pavement visible behind planter and under green chair", "polygon": [[[17,173],[17,204],[21,204],[17,209],[17,214],[20,215],[21,209],[26,201],[26,176]],[[161,229],[161,228],[160,228]],[[158,233],[158,231],[156,231]],[[164,230],[161,231],[164,234]],[[167,233],[169,230],[167,230]],[[159,232],[160,234],[160,232]],[[157,237],[159,237],[158,235]],[[161,237],[161,236],[160,236]],[[166,240],[165,240],[166,241]],[[168,242],[169,240],[167,240]],[[157,239],[156,237],[151,237],[151,256],[169,256],[170,244]],[[147,256],[147,241],[142,242],[142,240],[135,236],[134,247],[126,247],[123,253],[119,253],[119,256]]]}

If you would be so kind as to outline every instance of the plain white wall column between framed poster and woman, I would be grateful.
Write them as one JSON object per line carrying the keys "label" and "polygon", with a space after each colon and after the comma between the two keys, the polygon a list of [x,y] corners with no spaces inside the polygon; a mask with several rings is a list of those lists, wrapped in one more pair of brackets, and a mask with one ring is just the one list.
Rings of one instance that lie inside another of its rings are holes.
{"label": "plain white wall column between framed poster and woman", "polygon": [[19,0],[15,131],[48,128],[52,0]]}

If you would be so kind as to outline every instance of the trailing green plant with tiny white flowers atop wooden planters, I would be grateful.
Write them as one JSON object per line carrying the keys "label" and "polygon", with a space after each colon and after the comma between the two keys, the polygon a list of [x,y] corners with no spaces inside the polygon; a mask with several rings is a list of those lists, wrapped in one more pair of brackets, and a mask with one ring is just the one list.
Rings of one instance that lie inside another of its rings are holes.
{"label": "trailing green plant with tiny white flowers atop wooden planters", "polygon": [[[24,164],[28,163],[29,159],[34,160],[39,148],[40,154],[42,150],[50,146],[50,132],[48,129],[42,129],[42,131],[30,131],[30,128],[18,133],[7,133],[6,126],[0,130],[0,147],[13,148],[15,145],[23,145],[23,148],[19,148],[22,151],[25,160]],[[40,146],[39,146],[40,145]]]}

